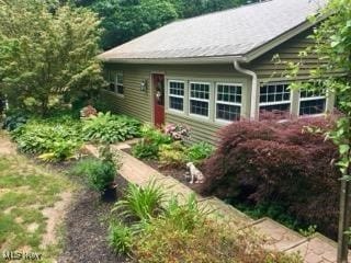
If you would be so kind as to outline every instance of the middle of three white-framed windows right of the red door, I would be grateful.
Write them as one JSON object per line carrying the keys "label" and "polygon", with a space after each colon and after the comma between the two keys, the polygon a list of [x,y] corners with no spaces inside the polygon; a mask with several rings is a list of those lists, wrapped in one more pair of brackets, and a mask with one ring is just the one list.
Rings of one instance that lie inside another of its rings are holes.
{"label": "middle of three white-framed windows right of the red door", "polygon": [[190,114],[210,116],[210,83],[205,82],[190,82]]}

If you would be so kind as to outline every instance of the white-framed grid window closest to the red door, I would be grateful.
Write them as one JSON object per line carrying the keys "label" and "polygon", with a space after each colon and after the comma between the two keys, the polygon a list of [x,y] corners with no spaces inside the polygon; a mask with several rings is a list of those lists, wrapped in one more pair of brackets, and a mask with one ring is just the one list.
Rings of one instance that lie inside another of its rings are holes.
{"label": "white-framed grid window closest to the red door", "polygon": [[168,82],[170,110],[184,112],[184,81],[170,80]]}

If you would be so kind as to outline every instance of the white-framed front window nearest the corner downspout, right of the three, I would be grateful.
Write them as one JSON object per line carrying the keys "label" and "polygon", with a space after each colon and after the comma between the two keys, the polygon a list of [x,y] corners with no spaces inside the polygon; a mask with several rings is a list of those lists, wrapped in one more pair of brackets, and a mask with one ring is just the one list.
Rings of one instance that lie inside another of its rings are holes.
{"label": "white-framed front window nearest the corner downspout, right of the three", "polygon": [[239,121],[241,113],[241,84],[216,84],[216,119]]}

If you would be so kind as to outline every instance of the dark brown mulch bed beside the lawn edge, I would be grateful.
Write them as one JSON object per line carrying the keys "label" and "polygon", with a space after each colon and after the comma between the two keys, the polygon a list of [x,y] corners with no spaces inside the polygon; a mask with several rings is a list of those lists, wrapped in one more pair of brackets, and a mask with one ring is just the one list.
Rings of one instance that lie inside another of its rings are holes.
{"label": "dark brown mulch bed beside the lawn edge", "polygon": [[[116,178],[117,196],[127,182]],[[100,194],[82,190],[76,194],[76,201],[65,220],[64,251],[59,263],[124,263],[132,262],[125,255],[113,253],[106,241],[107,217],[114,202],[102,202]]]}

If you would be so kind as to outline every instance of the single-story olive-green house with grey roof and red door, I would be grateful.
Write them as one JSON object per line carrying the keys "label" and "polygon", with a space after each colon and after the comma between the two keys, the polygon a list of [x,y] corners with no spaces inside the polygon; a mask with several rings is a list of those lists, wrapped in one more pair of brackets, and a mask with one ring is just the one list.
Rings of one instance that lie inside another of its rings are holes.
{"label": "single-story olive-green house with grey roof and red door", "polygon": [[[214,142],[223,125],[257,119],[261,111],[317,115],[333,98],[291,91],[285,66],[313,45],[313,24],[324,0],[271,0],[176,21],[99,56],[110,91],[103,100],[117,113],[156,126],[183,124],[194,140]],[[297,79],[309,79],[314,55]]]}

